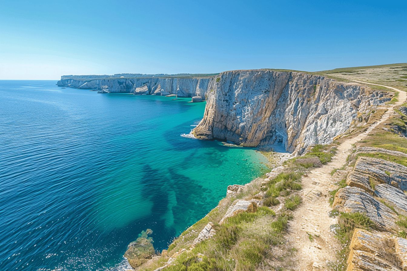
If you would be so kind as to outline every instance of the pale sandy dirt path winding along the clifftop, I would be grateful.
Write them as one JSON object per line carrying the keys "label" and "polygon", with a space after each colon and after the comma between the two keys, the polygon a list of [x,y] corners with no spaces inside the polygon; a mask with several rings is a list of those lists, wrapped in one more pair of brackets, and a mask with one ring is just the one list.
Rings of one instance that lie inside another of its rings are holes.
{"label": "pale sandy dirt path winding along the clifftop", "polygon": [[[352,81],[367,85],[377,85],[358,80]],[[398,91],[399,102],[383,106],[383,108],[388,108],[388,111],[381,117],[380,121],[372,124],[367,131],[359,134],[357,137],[347,139],[341,143],[338,146],[337,154],[335,154],[330,163],[312,170],[308,176],[302,178],[304,189],[303,203],[295,210],[294,218],[289,225],[289,234],[287,235],[289,245],[297,249],[295,270],[328,270],[327,261],[335,260],[335,254],[339,249],[339,245],[330,231],[330,225],[337,223],[337,221],[328,215],[332,210],[328,202],[328,186],[338,180],[332,180],[330,172],[333,169],[342,167],[350,154],[352,144],[366,137],[376,126],[386,121],[394,112],[394,106],[405,102],[407,97],[406,92],[394,87],[377,86]],[[309,235],[312,236],[313,240],[310,240]]]}

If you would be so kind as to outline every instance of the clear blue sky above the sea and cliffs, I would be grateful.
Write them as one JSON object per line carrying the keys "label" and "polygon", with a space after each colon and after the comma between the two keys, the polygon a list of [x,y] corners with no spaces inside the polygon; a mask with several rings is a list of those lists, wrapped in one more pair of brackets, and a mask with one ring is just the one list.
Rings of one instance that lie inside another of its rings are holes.
{"label": "clear blue sky above the sea and cliffs", "polygon": [[0,79],[407,62],[406,1],[2,1]]}

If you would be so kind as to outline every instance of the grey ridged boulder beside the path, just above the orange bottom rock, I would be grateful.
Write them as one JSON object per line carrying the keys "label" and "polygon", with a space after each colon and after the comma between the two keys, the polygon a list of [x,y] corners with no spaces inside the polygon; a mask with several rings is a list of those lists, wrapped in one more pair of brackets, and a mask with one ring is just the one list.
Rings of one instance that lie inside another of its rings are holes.
{"label": "grey ridged boulder beside the path, just above the orange bottom rock", "polygon": [[379,228],[396,228],[397,215],[383,203],[359,187],[346,186],[335,194],[333,207],[342,212],[360,212]]}

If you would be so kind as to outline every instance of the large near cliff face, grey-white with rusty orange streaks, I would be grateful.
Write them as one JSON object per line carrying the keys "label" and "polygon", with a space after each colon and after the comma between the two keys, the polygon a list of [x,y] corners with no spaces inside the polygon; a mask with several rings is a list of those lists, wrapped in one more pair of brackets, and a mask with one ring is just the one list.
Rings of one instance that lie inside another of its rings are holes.
{"label": "large near cliff face, grey-white with rusty orange streaks", "polygon": [[193,130],[197,138],[280,145],[288,152],[330,143],[383,97],[357,84],[265,69],[223,72],[208,89],[204,118]]}

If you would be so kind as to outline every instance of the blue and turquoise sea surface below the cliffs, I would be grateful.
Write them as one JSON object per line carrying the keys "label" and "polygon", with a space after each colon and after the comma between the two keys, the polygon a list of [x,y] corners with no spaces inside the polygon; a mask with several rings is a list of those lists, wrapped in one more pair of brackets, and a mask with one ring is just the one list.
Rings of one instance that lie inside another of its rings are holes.
{"label": "blue and turquoise sea surface below the cliffs", "polygon": [[0,270],[124,269],[142,230],[164,249],[266,170],[188,137],[205,103],[55,83],[0,80]]}

